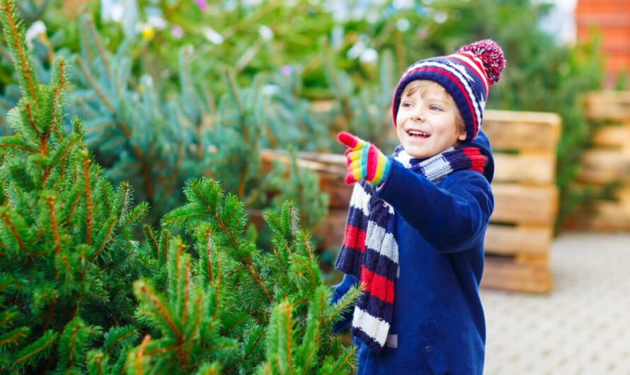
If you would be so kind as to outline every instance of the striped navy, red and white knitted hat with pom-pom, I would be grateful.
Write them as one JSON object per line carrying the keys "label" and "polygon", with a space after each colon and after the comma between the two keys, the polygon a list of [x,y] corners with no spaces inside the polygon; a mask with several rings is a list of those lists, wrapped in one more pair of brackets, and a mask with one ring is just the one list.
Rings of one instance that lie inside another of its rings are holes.
{"label": "striped navy, red and white knitted hat with pom-pom", "polygon": [[505,58],[501,47],[489,39],[459,47],[457,52],[448,56],[432,57],[411,64],[394,91],[391,108],[394,126],[401,95],[407,84],[417,79],[427,79],[439,83],[452,96],[464,119],[466,142],[471,141],[481,129],[488,87],[498,82],[504,67]]}

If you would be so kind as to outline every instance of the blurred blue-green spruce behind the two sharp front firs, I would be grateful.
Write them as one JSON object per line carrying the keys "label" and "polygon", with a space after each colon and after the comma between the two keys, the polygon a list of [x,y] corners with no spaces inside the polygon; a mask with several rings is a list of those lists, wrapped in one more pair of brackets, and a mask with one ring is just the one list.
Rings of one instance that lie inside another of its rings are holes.
{"label": "blurred blue-green spruce behind the two sharp front firs", "polygon": [[[179,52],[178,86],[173,89],[159,76],[134,79],[131,42],[111,54],[89,20],[81,23],[81,35],[82,53],[76,60],[80,88],[72,110],[86,118],[86,142],[108,176],[130,180],[138,197],[151,203],[151,221],[181,204],[185,180],[200,175],[221,180],[248,207],[270,205],[267,193],[275,190],[277,173],[260,171],[258,153],[264,146],[282,147],[294,139],[270,127],[277,124],[277,110],[263,92],[263,76],[239,87],[234,73],[224,71],[227,93],[215,106],[209,86],[190,71],[192,47]],[[307,195],[300,202],[319,204],[314,212],[325,212],[319,190],[302,192]]]}

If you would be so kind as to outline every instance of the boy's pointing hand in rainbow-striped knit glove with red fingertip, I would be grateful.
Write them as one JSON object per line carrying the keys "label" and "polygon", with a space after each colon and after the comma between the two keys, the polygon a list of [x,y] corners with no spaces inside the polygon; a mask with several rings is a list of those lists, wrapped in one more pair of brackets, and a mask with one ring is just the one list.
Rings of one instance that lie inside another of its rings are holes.
{"label": "boy's pointing hand in rainbow-striped knit glove with red fingertip", "polygon": [[377,146],[348,132],[340,132],[337,139],[348,146],[345,151],[345,163],[348,167],[346,185],[352,185],[358,180],[366,180],[374,186],[383,182],[391,161]]}

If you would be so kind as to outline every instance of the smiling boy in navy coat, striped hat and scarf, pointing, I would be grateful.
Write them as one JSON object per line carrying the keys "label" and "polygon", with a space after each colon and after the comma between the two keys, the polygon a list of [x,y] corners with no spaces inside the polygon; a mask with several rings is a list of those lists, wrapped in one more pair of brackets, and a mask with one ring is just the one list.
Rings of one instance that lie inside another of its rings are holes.
{"label": "smiling boy in navy coat, striped hat and scarf, pointing", "polygon": [[[403,74],[392,112],[401,145],[386,157],[342,132],[355,184],[333,302],[361,282],[352,316],[357,375],[482,374],[479,298],[494,165],[480,132],[503,52],[482,40]],[[349,314],[348,314],[349,315]]]}

